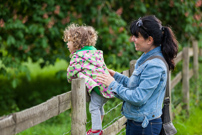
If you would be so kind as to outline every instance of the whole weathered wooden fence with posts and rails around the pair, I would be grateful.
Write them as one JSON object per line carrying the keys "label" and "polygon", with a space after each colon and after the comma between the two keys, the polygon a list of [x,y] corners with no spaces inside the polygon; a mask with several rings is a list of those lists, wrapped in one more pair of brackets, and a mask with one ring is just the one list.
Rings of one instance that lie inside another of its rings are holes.
{"label": "whole weathered wooden fence with posts and rails around the pair", "polygon": [[[180,71],[174,79],[170,79],[169,85],[173,89],[182,80],[182,94],[183,94],[183,109],[189,112],[189,79],[195,75],[198,79],[198,45],[197,41],[193,41],[193,47],[183,48],[175,58],[177,64],[183,60],[182,71]],[[193,69],[189,69],[190,57],[193,56]],[[130,69],[123,71],[122,74],[130,76],[134,70],[135,60],[130,62]],[[197,100],[199,100],[199,93],[196,87]],[[72,90],[55,96],[50,100],[26,109],[21,112],[16,112],[8,116],[0,118],[0,135],[14,135],[41,122],[44,122],[60,113],[71,109],[71,134],[85,135],[86,134],[86,86],[84,79],[75,79],[72,81]],[[124,126],[123,123],[126,118],[123,116],[112,125],[104,129],[104,135],[115,135],[120,132]]]}

